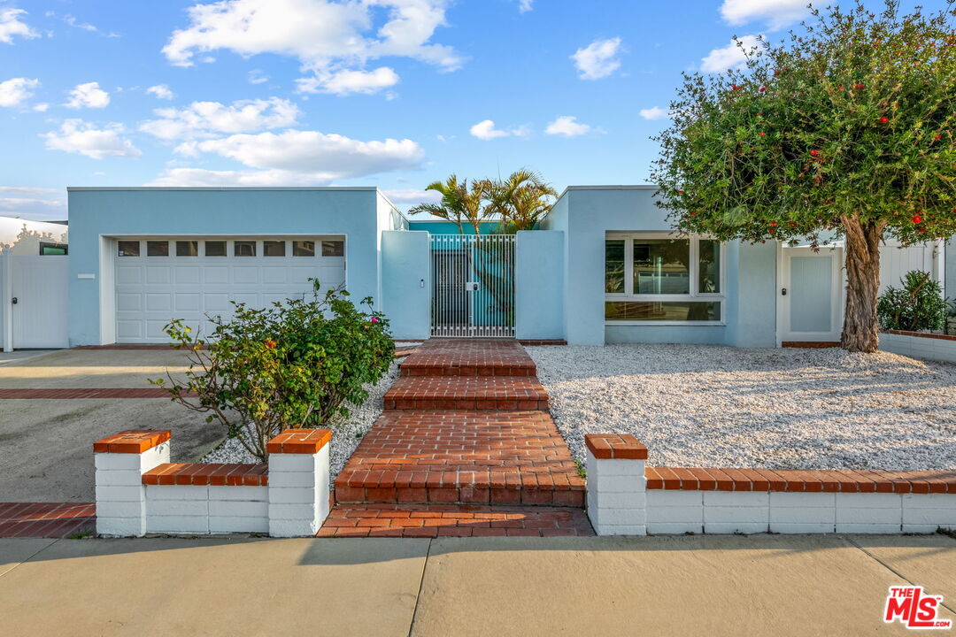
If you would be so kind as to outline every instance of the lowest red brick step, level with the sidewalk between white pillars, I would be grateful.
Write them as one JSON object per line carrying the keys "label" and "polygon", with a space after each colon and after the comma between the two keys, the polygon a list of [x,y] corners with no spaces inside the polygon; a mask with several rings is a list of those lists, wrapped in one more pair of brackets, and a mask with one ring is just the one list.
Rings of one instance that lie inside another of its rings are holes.
{"label": "lowest red brick step, level with the sidewalk between white pillars", "polygon": [[319,537],[442,538],[592,536],[582,509],[448,504],[339,504]]}

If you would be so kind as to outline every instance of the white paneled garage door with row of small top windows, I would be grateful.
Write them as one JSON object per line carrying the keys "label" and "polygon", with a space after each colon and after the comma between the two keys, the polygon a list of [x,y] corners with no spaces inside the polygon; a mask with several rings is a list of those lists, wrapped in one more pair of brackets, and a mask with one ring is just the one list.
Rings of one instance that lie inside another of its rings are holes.
{"label": "white paneled garage door with row of small top windows", "polygon": [[343,237],[120,239],[116,242],[118,343],[165,343],[170,320],[203,336],[208,316],[228,317],[230,301],[264,308],[303,298],[310,278],[345,284]]}

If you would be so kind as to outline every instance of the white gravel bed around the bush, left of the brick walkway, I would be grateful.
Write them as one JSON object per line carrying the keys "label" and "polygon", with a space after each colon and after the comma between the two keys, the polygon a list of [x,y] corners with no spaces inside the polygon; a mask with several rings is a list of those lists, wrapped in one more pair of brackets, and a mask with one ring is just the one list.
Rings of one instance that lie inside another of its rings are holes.
{"label": "white gravel bed around the bush, left of the brick walkway", "polygon": [[[405,346],[405,343],[400,344]],[[408,344],[411,345],[411,344]],[[338,472],[345,466],[345,462],[359,446],[364,436],[381,415],[384,407],[385,392],[399,379],[399,362],[392,363],[388,372],[381,378],[378,385],[367,385],[368,399],[361,405],[353,405],[349,417],[337,422],[332,427],[332,443],[329,449],[331,483],[335,481]],[[223,444],[212,450],[201,460],[202,462],[258,462],[250,455],[235,438],[228,438]]]}

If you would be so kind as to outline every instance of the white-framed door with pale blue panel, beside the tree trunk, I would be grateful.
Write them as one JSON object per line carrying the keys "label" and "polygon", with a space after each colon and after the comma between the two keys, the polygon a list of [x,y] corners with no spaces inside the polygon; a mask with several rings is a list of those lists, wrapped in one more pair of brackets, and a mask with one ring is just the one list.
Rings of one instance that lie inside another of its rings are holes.
{"label": "white-framed door with pale blue panel, beside the tree trunk", "polygon": [[843,317],[843,250],[784,247],[777,294],[780,341],[838,341]]}

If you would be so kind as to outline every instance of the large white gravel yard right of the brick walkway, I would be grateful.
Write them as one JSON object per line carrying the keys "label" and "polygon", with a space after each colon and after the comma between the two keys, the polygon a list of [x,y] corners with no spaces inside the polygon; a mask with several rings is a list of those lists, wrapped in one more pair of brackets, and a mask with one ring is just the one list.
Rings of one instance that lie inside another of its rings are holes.
{"label": "large white gravel yard right of the brick walkway", "polygon": [[956,365],[844,350],[529,347],[572,454],[632,433],[649,465],[956,469]]}

